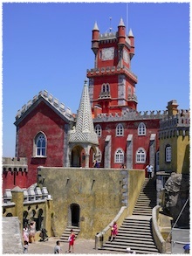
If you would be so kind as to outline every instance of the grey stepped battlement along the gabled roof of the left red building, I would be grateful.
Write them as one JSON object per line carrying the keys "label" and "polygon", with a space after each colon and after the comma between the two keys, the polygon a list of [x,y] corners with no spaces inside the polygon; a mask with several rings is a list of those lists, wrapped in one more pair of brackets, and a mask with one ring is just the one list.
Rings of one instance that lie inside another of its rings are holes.
{"label": "grey stepped battlement along the gabled roof of the left red building", "polygon": [[52,107],[56,108],[60,114],[64,115],[67,119],[73,120],[72,110],[69,107],[65,107],[64,103],[59,102],[57,98],[54,98],[51,93],[48,93],[46,90],[40,91],[38,95],[35,95],[32,100],[29,100],[27,104],[19,109],[16,114],[16,120],[19,119],[41,97],[49,102]]}

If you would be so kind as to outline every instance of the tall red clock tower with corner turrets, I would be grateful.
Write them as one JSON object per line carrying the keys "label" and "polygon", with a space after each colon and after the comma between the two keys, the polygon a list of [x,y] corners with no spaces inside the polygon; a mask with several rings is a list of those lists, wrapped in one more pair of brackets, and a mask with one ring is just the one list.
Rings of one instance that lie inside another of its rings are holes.
{"label": "tall red clock tower with corner turrets", "polygon": [[134,35],[131,30],[126,35],[122,18],[117,32],[100,34],[98,25],[94,24],[92,50],[94,68],[87,71],[87,77],[93,114],[136,110],[137,77],[131,71]]}

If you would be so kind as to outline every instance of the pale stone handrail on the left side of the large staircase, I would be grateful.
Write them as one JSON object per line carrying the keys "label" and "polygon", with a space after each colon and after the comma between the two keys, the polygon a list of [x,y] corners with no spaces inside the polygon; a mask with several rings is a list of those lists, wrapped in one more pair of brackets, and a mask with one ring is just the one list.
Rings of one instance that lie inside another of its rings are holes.
{"label": "pale stone handrail on the left side of the large staircase", "polygon": [[97,233],[95,235],[95,249],[97,250],[98,249],[98,242],[100,241],[101,245],[100,247],[103,246],[103,240],[104,240],[104,235],[106,234],[106,232],[108,230],[111,229],[111,226],[113,225],[113,222],[116,221],[118,222],[118,219],[121,217],[121,215],[123,214],[123,212],[127,209],[127,206],[122,206],[120,208],[120,211],[118,212],[118,214],[115,216],[115,218],[113,218],[113,221],[109,224],[109,225],[106,225],[106,227],[99,233]]}

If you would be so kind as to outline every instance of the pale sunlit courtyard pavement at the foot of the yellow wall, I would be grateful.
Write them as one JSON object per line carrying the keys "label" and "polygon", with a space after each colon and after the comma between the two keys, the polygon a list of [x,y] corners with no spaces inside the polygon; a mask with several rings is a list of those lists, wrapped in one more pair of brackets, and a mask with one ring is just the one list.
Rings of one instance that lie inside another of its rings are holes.
{"label": "pale sunlit courtyard pavement at the foot of the yellow wall", "polygon": [[[48,241],[29,244],[28,254],[53,254],[53,248],[56,245],[58,238],[49,238]],[[60,242],[61,253],[65,253],[68,250],[68,243]],[[118,252],[95,250],[93,239],[77,239],[74,244],[74,253],[72,254],[121,254]],[[123,253],[124,255],[125,253]]]}

